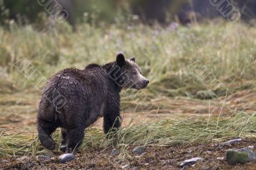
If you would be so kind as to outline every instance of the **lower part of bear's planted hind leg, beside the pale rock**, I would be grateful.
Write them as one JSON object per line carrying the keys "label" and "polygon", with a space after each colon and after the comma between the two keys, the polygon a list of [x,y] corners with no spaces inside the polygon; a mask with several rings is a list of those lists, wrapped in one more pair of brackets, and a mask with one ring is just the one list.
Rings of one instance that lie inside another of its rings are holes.
{"label": "lower part of bear's planted hind leg, beside the pale rock", "polygon": [[83,142],[84,128],[67,129],[67,150],[66,153],[78,151]]}

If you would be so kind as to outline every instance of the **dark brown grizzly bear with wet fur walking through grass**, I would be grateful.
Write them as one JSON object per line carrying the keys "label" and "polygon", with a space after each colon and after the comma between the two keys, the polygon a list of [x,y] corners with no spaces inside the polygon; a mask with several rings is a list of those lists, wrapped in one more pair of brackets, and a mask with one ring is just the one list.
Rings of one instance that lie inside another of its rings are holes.
{"label": "dark brown grizzly bear with wet fur walking through grass", "polygon": [[67,68],[53,75],[44,86],[38,105],[37,130],[40,143],[55,149],[51,134],[61,128],[60,150],[79,151],[84,130],[103,117],[104,133],[121,125],[120,91],[143,89],[148,79],[141,75],[135,58],[118,54],[106,65],[90,64],[79,70]]}

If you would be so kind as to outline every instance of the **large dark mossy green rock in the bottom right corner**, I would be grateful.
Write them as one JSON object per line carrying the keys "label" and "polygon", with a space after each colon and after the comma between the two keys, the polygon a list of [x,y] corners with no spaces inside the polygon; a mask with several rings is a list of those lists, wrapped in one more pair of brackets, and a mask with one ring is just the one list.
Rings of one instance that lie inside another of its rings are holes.
{"label": "large dark mossy green rock in the bottom right corner", "polygon": [[230,165],[245,164],[246,162],[256,160],[256,155],[250,148],[227,150],[226,160]]}

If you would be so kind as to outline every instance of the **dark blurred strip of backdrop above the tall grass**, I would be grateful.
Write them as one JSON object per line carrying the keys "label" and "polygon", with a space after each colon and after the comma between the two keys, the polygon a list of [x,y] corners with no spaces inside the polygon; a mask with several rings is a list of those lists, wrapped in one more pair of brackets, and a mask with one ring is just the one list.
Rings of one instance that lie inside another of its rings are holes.
{"label": "dark blurred strip of backdrop above the tall grass", "polygon": [[[44,0],[45,3],[50,0]],[[52,1],[52,0],[51,0]],[[68,22],[73,26],[81,22],[113,23],[125,14],[134,14],[145,24],[168,24],[175,20],[187,24],[193,20],[221,17],[211,2],[219,0],[56,0],[68,12]],[[46,12],[40,0],[0,0],[0,22],[9,19],[19,22],[42,22]],[[228,2],[228,1],[226,1]],[[256,1],[229,0],[242,14],[243,20],[255,19]],[[225,3],[223,3],[225,5]],[[225,8],[222,6],[221,8]],[[128,19],[128,18],[125,18]]]}

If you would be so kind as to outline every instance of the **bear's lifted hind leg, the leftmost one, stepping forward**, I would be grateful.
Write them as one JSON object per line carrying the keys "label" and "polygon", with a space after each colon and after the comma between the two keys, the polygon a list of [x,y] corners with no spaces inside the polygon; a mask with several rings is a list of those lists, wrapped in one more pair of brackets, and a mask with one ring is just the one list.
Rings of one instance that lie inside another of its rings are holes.
{"label": "bear's lifted hind leg, the leftmost one, stepping forward", "polygon": [[48,150],[54,150],[55,143],[52,140],[51,134],[56,130],[57,126],[54,123],[44,120],[38,120],[38,137],[41,144]]}

